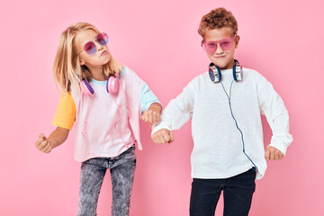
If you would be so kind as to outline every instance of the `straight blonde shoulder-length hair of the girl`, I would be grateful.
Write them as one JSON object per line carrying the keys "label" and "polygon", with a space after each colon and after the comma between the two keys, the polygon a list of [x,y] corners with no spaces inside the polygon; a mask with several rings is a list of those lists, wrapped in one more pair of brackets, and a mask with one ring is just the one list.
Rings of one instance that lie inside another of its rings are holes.
{"label": "straight blonde shoulder-length hair of the girl", "polygon": [[[63,93],[71,91],[71,85],[77,93],[80,93],[79,83],[82,79],[86,79],[88,82],[91,81],[90,71],[87,67],[80,65],[79,55],[77,55],[78,50],[76,49],[76,35],[85,30],[100,33],[90,23],[74,23],[63,31],[59,37],[58,50],[53,64],[53,77],[55,84],[57,87],[60,86]],[[111,56],[109,62],[103,65],[103,76],[108,78],[108,76],[115,73],[120,73],[121,67],[121,64]]]}

